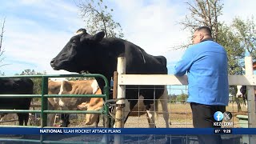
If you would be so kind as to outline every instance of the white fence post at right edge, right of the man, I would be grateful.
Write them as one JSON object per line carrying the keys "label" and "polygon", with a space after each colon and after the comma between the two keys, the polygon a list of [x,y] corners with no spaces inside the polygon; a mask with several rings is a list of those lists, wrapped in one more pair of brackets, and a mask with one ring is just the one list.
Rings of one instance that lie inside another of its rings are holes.
{"label": "white fence post at right edge, right of the man", "polygon": [[[253,62],[251,57],[245,58],[246,63],[246,75],[253,75]],[[255,110],[255,96],[254,86],[247,86],[247,109],[248,109],[248,127],[256,127],[256,110]],[[256,143],[256,136],[249,135],[249,143]]]}

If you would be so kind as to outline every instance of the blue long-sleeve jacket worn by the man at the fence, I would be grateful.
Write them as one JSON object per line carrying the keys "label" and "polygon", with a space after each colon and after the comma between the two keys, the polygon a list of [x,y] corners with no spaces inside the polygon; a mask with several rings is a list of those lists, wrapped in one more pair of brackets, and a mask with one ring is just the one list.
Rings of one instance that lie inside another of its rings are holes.
{"label": "blue long-sleeve jacket worn by the man at the fence", "polygon": [[174,74],[188,76],[187,102],[227,106],[229,84],[226,50],[206,40],[190,46],[174,67]]}

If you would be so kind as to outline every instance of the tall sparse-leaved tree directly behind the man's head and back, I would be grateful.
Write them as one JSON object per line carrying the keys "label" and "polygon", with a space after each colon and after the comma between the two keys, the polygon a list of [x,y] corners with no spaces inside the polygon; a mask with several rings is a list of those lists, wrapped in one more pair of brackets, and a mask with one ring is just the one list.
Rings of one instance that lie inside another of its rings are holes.
{"label": "tall sparse-leaved tree directly behind the man's head and back", "polygon": [[[245,50],[241,45],[241,38],[234,33],[234,29],[218,21],[218,17],[222,15],[221,0],[194,0],[194,3],[186,4],[189,6],[190,14],[180,22],[184,29],[189,29],[193,33],[198,26],[209,26],[214,40],[226,48],[229,74],[242,74],[241,58],[244,58]],[[235,95],[234,87],[231,86],[231,90],[231,94]],[[241,111],[238,98],[234,96],[234,99],[238,103],[238,111]]]}

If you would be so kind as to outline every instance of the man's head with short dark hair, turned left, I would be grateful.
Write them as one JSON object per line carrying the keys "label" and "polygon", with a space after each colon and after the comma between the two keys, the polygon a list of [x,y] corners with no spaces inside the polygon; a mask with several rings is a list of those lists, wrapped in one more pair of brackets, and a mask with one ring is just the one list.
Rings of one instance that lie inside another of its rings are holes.
{"label": "man's head with short dark hair, turned left", "polygon": [[202,40],[206,38],[212,38],[211,30],[207,26],[201,26],[201,27],[198,27],[198,29],[194,30],[194,34],[192,36],[192,42],[193,44],[197,44],[199,42],[202,42]]}

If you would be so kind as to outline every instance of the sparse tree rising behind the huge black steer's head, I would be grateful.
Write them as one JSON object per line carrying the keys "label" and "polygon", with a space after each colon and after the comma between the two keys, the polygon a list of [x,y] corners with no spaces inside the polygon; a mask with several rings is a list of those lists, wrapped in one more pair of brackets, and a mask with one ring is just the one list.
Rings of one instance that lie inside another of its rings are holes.
{"label": "sparse tree rising behind the huge black steer's head", "polygon": [[111,12],[113,9],[103,4],[103,0],[84,0],[78,3],[82,12],[82,18],[86,22],[86,30],[90,34],[96,34],[103,30],[107,37],[123,38],[122,27],[120,23],[114,22]]}

